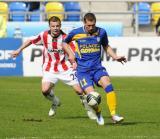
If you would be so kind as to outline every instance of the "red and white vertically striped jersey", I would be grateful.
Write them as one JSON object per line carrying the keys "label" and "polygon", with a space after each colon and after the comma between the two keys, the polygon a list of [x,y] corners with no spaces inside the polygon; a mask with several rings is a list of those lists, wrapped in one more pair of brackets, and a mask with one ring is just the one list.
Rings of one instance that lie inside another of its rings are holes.
{"label": "red and white vertically striped jersey", "polygon": [[[62,49],[65,37],[66,34],[61,31],[61,34],[54,38],[51,36],[50,30],[47,30],[31,39],[33,44],[43,45],[43,71],[55,73],[66,71],[71,67],[67,55]],[[74,45],[72,44],[71,47]]]}

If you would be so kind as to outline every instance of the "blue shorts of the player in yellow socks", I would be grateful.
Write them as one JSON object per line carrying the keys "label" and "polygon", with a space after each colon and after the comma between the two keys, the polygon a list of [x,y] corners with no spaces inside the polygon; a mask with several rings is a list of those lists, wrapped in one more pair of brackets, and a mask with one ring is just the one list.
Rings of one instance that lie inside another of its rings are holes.
{"label": "blue shorts of the player in yellow socks", "polygon": [[104,67],[89,71],[77,71],[77,78],[82,89],[85,90],[89,86],[98,85],[98,81],[102,76],[109,76]]}

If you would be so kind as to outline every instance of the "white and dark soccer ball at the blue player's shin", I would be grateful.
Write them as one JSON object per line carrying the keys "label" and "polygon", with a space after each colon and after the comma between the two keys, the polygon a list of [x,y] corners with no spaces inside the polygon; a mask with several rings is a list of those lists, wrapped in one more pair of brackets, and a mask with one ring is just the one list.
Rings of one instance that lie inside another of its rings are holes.
{"label": "white and dark soccer ball at the blue player's shin", "polygon": [[101,103],[101,96],[97,92],[88,94],[86,99],[89,106],[95,106]]}

